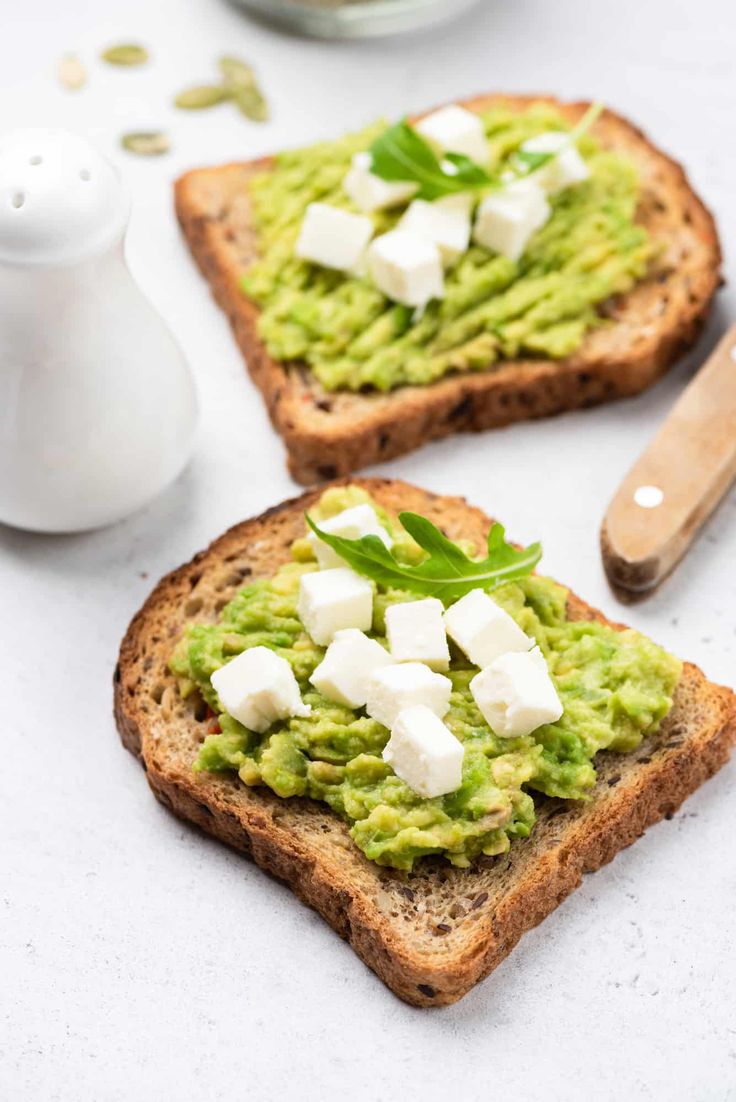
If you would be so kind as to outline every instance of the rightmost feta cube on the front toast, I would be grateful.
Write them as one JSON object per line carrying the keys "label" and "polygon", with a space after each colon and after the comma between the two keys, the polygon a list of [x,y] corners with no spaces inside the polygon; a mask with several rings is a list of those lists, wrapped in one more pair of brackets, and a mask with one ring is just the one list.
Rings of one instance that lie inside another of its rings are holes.
{"label": "rightmost feta cube on the front toast", "polygon": [[470,681],[488,726],[507,738],[530,735],[562,715],[562,704],[539,647],[501,655]]}

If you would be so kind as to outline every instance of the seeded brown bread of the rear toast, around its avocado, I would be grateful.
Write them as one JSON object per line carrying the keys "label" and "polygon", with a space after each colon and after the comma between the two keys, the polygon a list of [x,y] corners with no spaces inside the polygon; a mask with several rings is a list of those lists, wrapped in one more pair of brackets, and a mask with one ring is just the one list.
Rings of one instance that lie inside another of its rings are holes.
{"label": "seeded brown bread of the rear toast, around its avocado", "polygon": [[[526,96],[480,96],[466,106],[522,110],[541,100],[553,104],[571,123],[589,106]],[[683,170],[630,122],[605,111],[592,132],[637,165],[637,218],[661,247],[648,278],[607,304],[614,324],[589,333],[567,359],[494,364],[487,371],[451,375],[390,393],[328,392],[305,365],[272,359],[258,336],[259,310],[240,290],[239,279],[257,256],[248,181],[268,168],[270,159],[199,169],[177,181],[180,223],[230,318],[297,482],[336,478],[454,432],[477,432],[636,395],[694,342],[721,282],[713,218]]]}

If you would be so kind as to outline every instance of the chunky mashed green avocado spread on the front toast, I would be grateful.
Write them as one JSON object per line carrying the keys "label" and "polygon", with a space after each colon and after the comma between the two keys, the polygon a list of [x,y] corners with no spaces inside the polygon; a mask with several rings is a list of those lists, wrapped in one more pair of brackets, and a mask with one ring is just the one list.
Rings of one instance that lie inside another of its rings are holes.
{"label": "chunky mashed green avocado spread on the front toast", "polygon": [[[313,511],[316,519],[370,500],[358,487],[329,489]],[[405,561],[416,548],[399,526],[377,509]],[[362,710],[351,711],[317,693],[309,682],[324,648],[306,636],[296,615],[300,576],[316,569],[306,540],[292,549],[293,562],[271,579],[253,582],[223,609],[218,624],[191,625],[176,647],[171,669],[180,691],[197,691],[219,714],[220,734],[209,735],[196,770],[237,770],[246,785],[266,785],[278,796],[324,800],[350,824],[350,835],[380,865],[409,869],[415,858],[442,854],[466,866],[479,855],[508,850],[534,822],[530,789],[563,799],[585,799],[595,782],[595,754],[625,753],[657,728],[672,704],[680,662],[634,630],[569,620],[566,591],[545,577],[526,577],[494,592],[494,599],[532,635],[549,662],[564,714],[522,738],[500,738],[489,730],[468,684],[477,669],[453,651],[451,710],[445,722],[463,742],[463,784],[448,796],[424,799],[381,759],[386,727]],[[374,633],[383,640],[389,604],[415,594],[377,587]],[[312,714],[274,724],[264,735],[247,731],[221,713],[209,679],[247,647],[264,645],[293,667]]]}

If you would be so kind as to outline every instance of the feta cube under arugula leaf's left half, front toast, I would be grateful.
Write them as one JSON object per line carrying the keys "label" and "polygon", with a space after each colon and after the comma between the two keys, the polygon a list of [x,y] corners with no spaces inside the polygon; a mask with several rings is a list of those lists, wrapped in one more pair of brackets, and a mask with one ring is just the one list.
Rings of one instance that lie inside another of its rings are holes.
{"label": "feta cube under arugula leaf's left half, front toast", "polygon": [[320,647],[346,627],[368,631],[374,619],[374,587],[346,566],[302,574],[296,604],[307,635]]}

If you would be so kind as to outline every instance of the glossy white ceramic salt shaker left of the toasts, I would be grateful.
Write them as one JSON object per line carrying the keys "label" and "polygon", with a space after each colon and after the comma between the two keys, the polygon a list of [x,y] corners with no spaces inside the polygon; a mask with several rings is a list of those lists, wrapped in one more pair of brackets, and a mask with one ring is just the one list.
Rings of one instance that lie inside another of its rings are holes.
{"label": "glossy white ceramic salt shaker left of the toasts", "polygon": [[188,367],[123,258],[115,169],[64,130],[0,136],[0,521],[97,528],[184,467]]}

